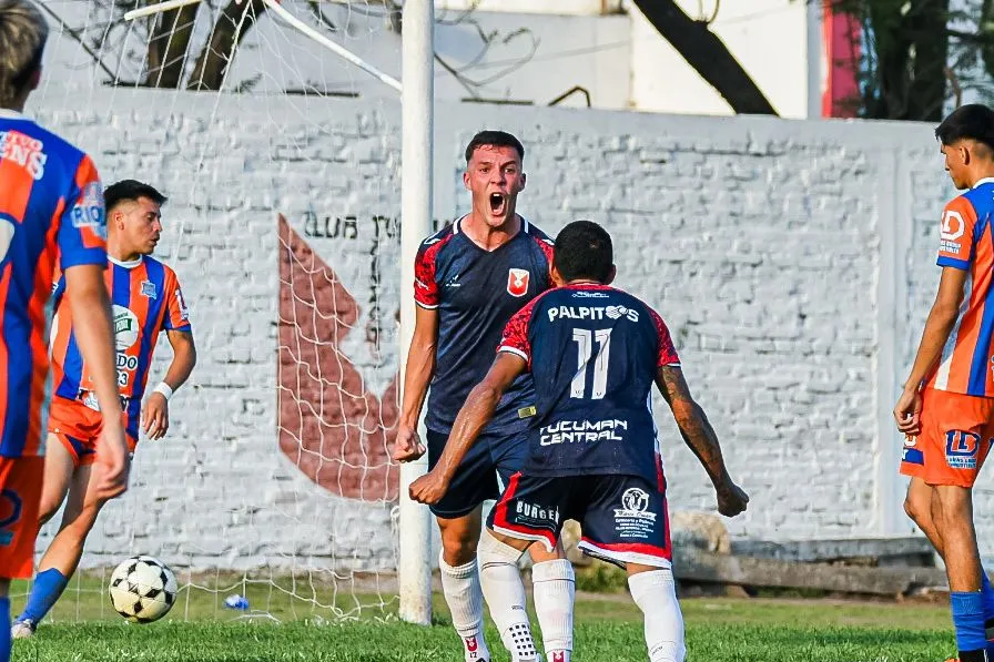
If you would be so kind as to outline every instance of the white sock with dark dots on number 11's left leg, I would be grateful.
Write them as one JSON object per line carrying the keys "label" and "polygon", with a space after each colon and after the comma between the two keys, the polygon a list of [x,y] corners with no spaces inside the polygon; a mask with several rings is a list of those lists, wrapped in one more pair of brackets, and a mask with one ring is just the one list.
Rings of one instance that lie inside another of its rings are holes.
{"label": "white sock with dark dots on number 11's left leg", "polygon": [[504,648],[510,651],[511,662],[539,660],[525,609],[525,584],[518,571],[518,559],[524,553],[500,542],[484,529],[477,552],[479,582]]}

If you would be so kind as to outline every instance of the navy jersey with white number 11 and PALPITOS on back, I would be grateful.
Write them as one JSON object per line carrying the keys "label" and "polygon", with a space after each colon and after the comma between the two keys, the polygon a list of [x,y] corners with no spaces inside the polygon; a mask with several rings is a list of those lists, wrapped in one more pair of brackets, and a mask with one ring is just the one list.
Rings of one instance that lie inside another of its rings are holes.
{"label": "navy jersey with white number 11 and PALPITOS on back", "polygon": [[680,359],[656,310],[606,285],[559,287],[511,318],[499,352],[535,380],[525,475],[625,473],[662,488],[649,391]]}

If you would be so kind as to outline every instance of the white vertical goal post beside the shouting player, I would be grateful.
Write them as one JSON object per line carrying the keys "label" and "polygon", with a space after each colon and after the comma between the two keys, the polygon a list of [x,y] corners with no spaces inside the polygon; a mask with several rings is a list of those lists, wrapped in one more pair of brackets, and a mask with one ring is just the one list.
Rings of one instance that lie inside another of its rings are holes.
{"label": "white vertical goal post beside the shouting player", "polygon": [[[400,381],[414,335],[414,259],[430,232],[434,186],[434,3],[404,2],[402,33],[400,153]],[[427,166],[425,166],[427,161]],[[403,403],[403,386],[398,391]],[[399,615],[410,623],[432,623],[432,518],[410,500],[408,486],[427,469],[427,458],[400,467]]]}

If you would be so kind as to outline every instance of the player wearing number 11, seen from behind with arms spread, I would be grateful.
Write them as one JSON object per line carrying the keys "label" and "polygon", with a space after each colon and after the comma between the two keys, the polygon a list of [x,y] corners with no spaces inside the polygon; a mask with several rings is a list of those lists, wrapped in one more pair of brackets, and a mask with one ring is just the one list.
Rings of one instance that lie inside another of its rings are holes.
{"label": "player wearing number 11, seen from behind with arms spread", "polygon": [[560,286],[508,323],[497,359],[460,409],[445,452],[430,473],[412,483],[410,497],[423,503],[445,498],[501,394],[530,371],[537,397],[528,458],[480,540],[480,577],[494,622],[503,628],[524,609],[520,602],[491,601],[490,594],[515,581],[525,549],[532,541],[551,549],[564,520],[576,519],[584,551],[628,570],[631,594],[646,618],[651,662],[680,662],[683,620],[650,409],[653,381],[714,483],[719,512],[736,516],[749,498],[724,468],[718,438],[690,395],[662,319],[609,287],[613,277],[611,238],[604,228],[577,221],[559,233],[552,278]]}

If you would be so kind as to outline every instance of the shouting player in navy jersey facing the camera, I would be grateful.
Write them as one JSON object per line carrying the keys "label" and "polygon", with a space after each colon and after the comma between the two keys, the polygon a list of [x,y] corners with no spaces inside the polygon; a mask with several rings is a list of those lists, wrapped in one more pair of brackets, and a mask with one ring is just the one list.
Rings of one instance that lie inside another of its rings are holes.
{"label": "shouting player in navy jersey facing the camera", "polygon": [[[469,389],[486,375],[500,332],[521,306],[550,286],[552,242],[516,213],[525,187],[525,149],[509,133],[483,131],[466,147],[463,182],[473,210],[425,240],[415,265],[417,315],[404,377],[404,403],[393,457],[408,461],[424,454],[418,418],[428,384],[425,425],[428,466],[446,446],[456,413]],[[521,376],[500,401],[483,441],[453,476],[452,490],[432,505],[442,531],[439,569],[453,625],[467,661],[490,659],[483,633],[483,595],[476,564],[481,505],[499,496],[521,467],[534,405],[531,379]],[[572,649],[572,566],[561,548],[532,548],[535,610],[548,658],[569,662]],[[484,589],[486,590],[486,588]],[[505,587],[524,599],[520,580]],[[517,598],[516,598],[517,599]],[[513,661],[536,660],[528,617],[523,611],[500,635]]]}

